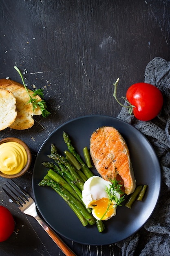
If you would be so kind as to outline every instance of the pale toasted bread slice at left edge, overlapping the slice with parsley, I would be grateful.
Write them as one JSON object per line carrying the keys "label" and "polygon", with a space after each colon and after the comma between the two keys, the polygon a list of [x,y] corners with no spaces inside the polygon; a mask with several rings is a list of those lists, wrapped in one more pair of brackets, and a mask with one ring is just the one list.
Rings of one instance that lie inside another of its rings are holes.
{"label": "pale toasted bread slice at left edge, overlapping the slice with parsley", "polygon": [[17,117],[16,99],[12,92],[0,89],[0,130],[13,124]]}

